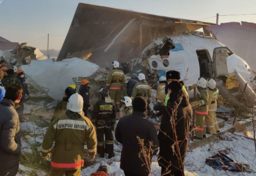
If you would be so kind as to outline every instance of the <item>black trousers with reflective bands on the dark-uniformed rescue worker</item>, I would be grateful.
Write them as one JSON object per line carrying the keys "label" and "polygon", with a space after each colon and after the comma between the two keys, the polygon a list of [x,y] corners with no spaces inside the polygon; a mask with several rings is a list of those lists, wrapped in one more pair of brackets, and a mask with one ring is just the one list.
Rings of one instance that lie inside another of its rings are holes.
{"label": "black trousers with reflective bands on the dark-uniformed rescue worker", "polygon": [[114,137],[111,127],[97,128],[97,153],[100,155],[114,153]]}

